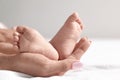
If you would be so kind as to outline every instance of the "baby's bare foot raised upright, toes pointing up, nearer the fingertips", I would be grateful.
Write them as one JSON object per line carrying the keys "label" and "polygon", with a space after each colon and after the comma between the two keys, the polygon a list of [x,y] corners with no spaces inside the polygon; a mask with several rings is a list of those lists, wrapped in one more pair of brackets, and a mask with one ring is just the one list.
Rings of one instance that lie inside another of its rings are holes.
{"label": "baby's bare foot raised upright, toes pointing up, nearer the fingertips", "polygon": [[59,53],[60,59],[65,59],[72,52],[80,38],[83,25],[77,13],[73,13],[66,20],[63,27],[50,41],[50,43],[56,48]]}

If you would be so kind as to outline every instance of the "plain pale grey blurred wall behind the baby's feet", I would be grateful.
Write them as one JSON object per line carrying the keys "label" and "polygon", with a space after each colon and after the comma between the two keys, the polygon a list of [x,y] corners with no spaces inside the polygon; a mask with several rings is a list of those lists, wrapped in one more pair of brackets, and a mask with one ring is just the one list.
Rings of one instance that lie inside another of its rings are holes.
{"label": "plain pale grey blurred wall behind the baby's feet", "polygon": [[89,38],[120,38],[120,0],[0,0],[0,22],[28,25],[51,38],[74,11]]}

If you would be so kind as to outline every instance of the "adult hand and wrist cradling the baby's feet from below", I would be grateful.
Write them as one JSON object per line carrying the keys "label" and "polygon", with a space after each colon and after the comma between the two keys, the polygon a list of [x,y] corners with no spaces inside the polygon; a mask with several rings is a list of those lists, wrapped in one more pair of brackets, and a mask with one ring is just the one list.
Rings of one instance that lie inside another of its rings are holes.
{"label": "adult hand and wrist cradling the baby's feet from below", "polygon": [[14,56],[0,55],[1,69],[8,69],[30,74],[32,76],[52,76],[64,73],[72,68],[90,46],[81,46],[64,60],[50,60],[42,54],[21,53]]}

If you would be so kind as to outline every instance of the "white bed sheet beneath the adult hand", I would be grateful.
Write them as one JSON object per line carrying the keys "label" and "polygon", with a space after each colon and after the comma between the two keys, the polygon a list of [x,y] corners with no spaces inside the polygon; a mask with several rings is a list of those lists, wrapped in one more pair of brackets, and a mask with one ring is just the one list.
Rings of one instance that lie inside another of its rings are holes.
{"label": "white bed sheet beneath the adult hand", "polygon": [[64,76],[31,77],[0,70],[0,80],[120,80],[120,39],[92,39],[82,57],[83,67],[70,70]]}

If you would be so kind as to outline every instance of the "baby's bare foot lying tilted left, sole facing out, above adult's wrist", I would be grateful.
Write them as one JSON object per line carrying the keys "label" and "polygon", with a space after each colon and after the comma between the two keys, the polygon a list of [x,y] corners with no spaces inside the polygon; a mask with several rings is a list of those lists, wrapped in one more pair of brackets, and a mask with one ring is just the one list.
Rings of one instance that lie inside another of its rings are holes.
{"label": "baby's bare foot lying tilted left, sole facing out, above adult's wrist", "polygon": [[18,26],[16,31],[14,41],[20,52],[40,53],[50,59],[58,59],[57,51],[36,30],[25,26]]}

